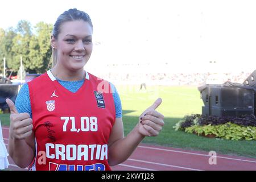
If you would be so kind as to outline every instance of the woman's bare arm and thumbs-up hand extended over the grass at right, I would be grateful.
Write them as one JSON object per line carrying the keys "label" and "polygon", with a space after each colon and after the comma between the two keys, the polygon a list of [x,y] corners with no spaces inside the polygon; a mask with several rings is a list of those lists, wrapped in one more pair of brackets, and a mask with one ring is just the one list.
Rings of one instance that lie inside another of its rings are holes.
{"label": "woman's bare arm and thumbs-up hand extended over the grass at right", "polygon": [[156,102],[146,109],[139,119],[138,124],[124,137],[122,118],[115,119],[112,133],[109,138],[109,165],[115,166],[124,162],[133,153],[138,144],[146,136],[157,136],[164,125],[164,116],[157,111],[156,107],[162,100]]}

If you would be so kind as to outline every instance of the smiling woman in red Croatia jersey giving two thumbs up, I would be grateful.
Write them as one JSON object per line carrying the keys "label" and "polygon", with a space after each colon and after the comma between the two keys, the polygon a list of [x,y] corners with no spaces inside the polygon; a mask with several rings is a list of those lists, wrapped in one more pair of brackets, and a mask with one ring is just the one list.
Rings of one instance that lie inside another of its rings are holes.
{"label": "smiling woman in red Croatia jersey giving two thumbs up", "polygon": [[[10,107],[9,154],[31,170],[111,170],[142,139],[164,125],[159,98],[124,137],[114,85],[84,71],[92,53],[93,26],[76,9],[59,16],[51,38],[52,69],[28,82]],[[102,86],[103,85],[103,86]],[[108,89],[109,88],[109,89]]]}

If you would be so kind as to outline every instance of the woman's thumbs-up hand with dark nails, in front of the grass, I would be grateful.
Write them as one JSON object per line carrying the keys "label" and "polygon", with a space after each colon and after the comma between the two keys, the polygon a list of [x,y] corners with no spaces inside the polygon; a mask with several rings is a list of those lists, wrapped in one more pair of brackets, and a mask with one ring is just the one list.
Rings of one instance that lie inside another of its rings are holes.
{"label": "woman's thumbs-up hand with dark nails, in front of the grass", "polygon": [[156,108],[162,103],[158,98],[154,104],[148,107],[139,118],[139,133],[148,137],[155,137],[164,126],[164,115],[156,111]]}

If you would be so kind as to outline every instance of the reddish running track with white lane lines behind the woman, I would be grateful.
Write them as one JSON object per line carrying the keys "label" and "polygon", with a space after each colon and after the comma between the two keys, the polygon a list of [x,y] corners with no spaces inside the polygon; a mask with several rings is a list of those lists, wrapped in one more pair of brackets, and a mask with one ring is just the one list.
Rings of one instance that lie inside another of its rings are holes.
{"label": "reddish running track with white lane lines behind the woman", "polygon": [[[7,147],[9,128],[2,127],[2,131]],[[115,171],[256,171],[256,159],[217,154],[217,164],[209,164],[209,158],[208,152],[140,144],[129,159],[112,169]],[[11,170],[27,170],[16,166],[10,156],[9,163]]]}

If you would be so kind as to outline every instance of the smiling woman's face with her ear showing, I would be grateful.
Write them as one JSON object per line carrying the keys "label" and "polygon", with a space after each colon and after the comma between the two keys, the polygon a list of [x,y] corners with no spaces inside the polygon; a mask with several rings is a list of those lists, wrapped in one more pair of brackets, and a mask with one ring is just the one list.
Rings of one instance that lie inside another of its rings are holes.
{"label": "smiling woman's face with her ear showing", "polygon": [[70,71],[83,69],[92,53],[92,27],[84,20],[61,24],[57,39],[52,38],[57,49],[57,66]]}

